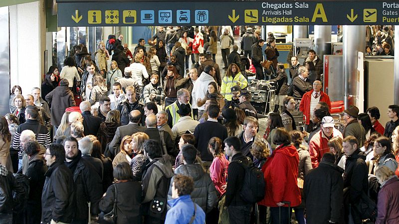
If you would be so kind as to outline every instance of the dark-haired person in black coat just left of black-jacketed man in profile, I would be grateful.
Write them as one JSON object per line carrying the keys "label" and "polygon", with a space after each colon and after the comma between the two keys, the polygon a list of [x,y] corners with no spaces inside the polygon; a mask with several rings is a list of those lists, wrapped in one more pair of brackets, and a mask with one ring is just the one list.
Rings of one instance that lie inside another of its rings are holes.
{"label": "dark-haired person in black coat just left of black-jacketed man in profile", "polygon": [[26,176],[29,178],[26,218],[27,223],[35,224],[40,223],[41,220],[41,193],[46,180],[44,175],[47,172],[47,165],[43,158],[44,151],[41,151],[40,144],[37,141],[27,142],[24,150],[29,156],[29,166],[26,171]]}

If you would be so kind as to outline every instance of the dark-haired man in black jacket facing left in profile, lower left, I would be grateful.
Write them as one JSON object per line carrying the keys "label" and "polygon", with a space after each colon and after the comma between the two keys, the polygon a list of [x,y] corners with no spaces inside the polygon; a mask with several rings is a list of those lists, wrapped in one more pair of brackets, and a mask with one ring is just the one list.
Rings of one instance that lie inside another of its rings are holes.
{"label": "dark-haired man in black jacket facing left in profile, lower left", "polygon": [[45,152],[48,170],[41,195],[41,222],[71,223],[73,216],[73,178],[65,166],[65,150],[60,144],[51,144]]}

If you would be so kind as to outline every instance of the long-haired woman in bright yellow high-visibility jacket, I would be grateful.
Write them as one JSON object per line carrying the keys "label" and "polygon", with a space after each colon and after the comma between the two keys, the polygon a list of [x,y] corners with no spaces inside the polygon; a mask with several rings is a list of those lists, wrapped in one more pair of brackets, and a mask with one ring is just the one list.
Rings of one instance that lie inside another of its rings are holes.
{"label": "long-haired woman in bright yellow high-visibility jacket", "polygon": [[226,101],[231,101],[231,87],[239,86],[241,89],[247,87],[248,82],[245,77],[241,74],[240,68],[237,64],[231,63],[228,68],[226,75],[221,81],[220,94],[226,99]]}

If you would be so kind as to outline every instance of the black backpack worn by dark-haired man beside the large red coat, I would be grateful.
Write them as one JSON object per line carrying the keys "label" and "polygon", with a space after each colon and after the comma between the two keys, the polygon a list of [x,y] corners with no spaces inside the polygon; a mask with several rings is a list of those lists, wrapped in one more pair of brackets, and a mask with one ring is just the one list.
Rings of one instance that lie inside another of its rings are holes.
{"label": "black backpack worn by dark-haired man beside the large red coat", "polygon": [[245,170],[244,183],[242,184],[240,197],[247,203],[257,203],[262,201],[265,197],[266,183],[263,178],[263,172],[253,166],[250,158],[246,158],[248,159],[248,165],[244,165],[242,160],[237,161]]}

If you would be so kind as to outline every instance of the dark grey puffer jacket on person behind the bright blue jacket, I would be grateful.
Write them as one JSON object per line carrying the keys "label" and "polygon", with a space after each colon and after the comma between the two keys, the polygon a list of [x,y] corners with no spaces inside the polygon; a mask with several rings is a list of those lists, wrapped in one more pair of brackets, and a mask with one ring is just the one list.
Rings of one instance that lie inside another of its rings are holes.
{"label": "dark grey puffer jacket on person behind the bright blue jacket", "polygon": [[[194,179],[194,191],[191,193],[193,202],[197,203],[205,213],[210,212],[218,201],[216,188],[199,163],[181,165],[175,170],[175,174],[183,174]],[[169,188],[168,200],[172,199],[172,183]]]}

